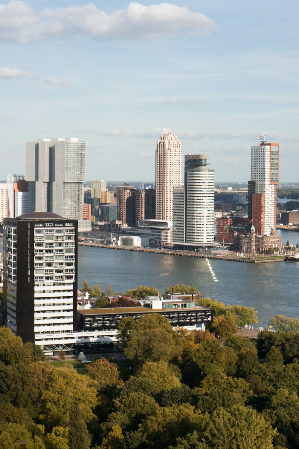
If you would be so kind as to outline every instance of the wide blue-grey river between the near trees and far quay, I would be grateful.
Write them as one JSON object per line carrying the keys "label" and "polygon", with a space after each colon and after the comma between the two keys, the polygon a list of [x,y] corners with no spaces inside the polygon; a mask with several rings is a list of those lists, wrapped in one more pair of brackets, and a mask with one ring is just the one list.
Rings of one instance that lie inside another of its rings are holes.
{"label": "wide blue-grey river between the near trees and far quay", "polygon": [[[297,232],[278,232],[283,243],[299,242]],[[110,284],[114,291],[125,292],[147,285],[156,286],[163,293],[170,284],[184,282],[196,286],[204,297],[256,308],[262,326],[268,325],[269,318],[277,313],[299,317],[299,263],[242,264],[211,259],[208,262],[214,275],[205,259],[78,247],[78,287],[87,281],[90,285],[100,284],[103,290]]]}

